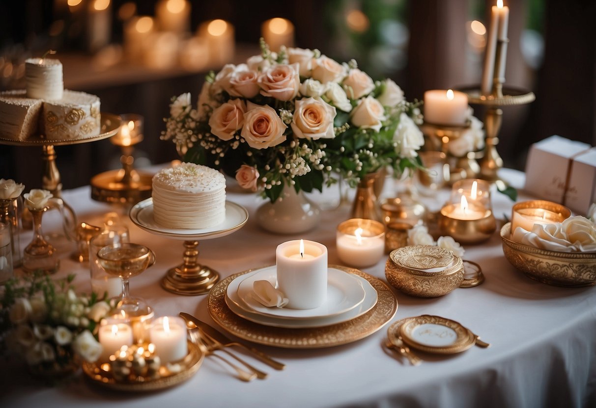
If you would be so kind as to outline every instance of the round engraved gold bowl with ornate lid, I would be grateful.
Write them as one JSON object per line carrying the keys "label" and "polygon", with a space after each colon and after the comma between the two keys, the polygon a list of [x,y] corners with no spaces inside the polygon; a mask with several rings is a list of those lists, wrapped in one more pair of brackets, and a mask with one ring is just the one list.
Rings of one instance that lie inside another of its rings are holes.
{"label": "round engraved gold bowl with ornate lid", "polygon": [[[419,270],[445,266],[448,267],[439,272]],[[459,287],[464,280],[464,266],[461,258],[449,250],[432,245],[412,245],[389,254],[385,277],[391,285],[411,296],[439,297]]]}

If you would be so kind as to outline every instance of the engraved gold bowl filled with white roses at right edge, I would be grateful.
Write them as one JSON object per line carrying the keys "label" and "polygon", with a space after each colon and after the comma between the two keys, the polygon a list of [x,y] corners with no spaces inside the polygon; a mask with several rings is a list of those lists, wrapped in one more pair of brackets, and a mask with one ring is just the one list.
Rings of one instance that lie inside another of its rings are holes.
{"label": "engraved gold bowl filled with white roses at right edge", "polygon": [[507,261],[532,279],[556,286],[596,285],[596,252],[556,252],[511,241],[511,222],[501,228]]}

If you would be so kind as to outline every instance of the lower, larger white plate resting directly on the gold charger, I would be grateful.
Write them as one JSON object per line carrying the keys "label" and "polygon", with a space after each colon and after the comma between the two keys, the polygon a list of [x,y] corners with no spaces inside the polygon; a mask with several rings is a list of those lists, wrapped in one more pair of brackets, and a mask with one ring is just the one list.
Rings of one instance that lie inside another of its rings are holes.
{"label": "lower, larger white plate resting directly on the gold charger", "polygon": [[226,305],[228,305],[229,309],[236,315],[251,322],[262,324],[265,326],[283,328],[310,328],[329,326],[333,324],[347,322],[349,320],[357,318],[358,316],[364,315],[364,313],[368,312],[368,310],[370,309],[373,309],[374,305],[377,304],[378,295],[375,288],[364,278],[361,278],[353,274],[350,275],[352,275],[362,283],[362,288],[364,288],[364,300],[362,301],[362,303],[360,303],[360,305],[354,307],[353,309],[347,310],[347,312],[340,313],[339,315],[335,316],[311,319],[285,319],[275,316],[265,316],[260,315],[258,313],[247,312],[242,307],[238,306],[240,304],[240,298],[238,298],[237,290],[240,282],[234,284],[232,289],[230,289],[232,284],[230,283],[228,285],[228,290],[226,291],[225,296],[225,302]]}

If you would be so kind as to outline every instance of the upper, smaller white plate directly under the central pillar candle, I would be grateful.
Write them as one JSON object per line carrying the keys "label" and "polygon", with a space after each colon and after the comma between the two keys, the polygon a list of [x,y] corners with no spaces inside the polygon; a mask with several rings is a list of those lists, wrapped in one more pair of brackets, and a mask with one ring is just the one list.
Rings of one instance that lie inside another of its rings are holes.
{"label": "upper, smaller white plate directly under the central pillar candle", "polygon": [[339,269],[329,268],[327,271],[327,300],[314,309],[291,309],[290,307],[266,307],[251,296],[254,281],[266,280],[277,287],[277,271],[275,265],[259,269],[247,277],[238,277],[238,306],[250,313],[260,313],[286,319],[312,319],[339,315],[360,305],[364,301],[364,288],[355,275],[346,274]]}

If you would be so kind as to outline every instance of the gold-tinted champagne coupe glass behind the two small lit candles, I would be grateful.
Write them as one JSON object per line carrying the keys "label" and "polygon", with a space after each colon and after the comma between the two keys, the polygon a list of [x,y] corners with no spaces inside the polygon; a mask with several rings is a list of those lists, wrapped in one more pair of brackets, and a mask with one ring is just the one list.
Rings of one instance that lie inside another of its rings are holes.
{"label": "gold-tinted champagne coupe glass behind the two small lit candles", "polygon": [[122,300],[116,310],[123,310],[127,316],[147,314],[147,303],[130,296],[128,283],[130,278],[141,274],[155,263],[153,251],[140,244],[117,243],[101,248],[97,252],[97,261],[105,272],[122,280]]}

